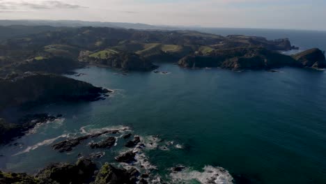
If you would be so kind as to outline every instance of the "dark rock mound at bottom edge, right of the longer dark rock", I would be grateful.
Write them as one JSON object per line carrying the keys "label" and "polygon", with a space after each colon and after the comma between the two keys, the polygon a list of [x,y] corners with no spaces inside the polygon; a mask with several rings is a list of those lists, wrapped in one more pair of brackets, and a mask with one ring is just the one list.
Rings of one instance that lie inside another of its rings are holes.
{"label": "dark rock mound at bottom edge, right of the longer dark rock", "polygon": [[139,171],[137,169],[118,169],[111,164],[104,164],[96,176],[97,184],[134,184],[137,183]]}

